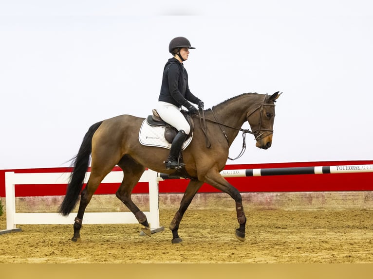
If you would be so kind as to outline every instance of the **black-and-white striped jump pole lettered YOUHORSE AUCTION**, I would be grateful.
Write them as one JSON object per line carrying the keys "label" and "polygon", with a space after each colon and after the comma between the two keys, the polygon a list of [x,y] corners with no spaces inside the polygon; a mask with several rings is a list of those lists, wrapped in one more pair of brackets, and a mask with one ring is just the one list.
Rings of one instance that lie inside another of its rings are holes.
{"label": "black-and-white striped jump pole lettered YOUHORSE AUCTION", "polygon": [[[265,168],[265,169],[241,169],[224,170],[220,172],[223,177],[268,176],[268,175],[293,175],[293,174],[351,174],[373,173],[373,165],[340,165],[318,167],[293,167],[293,168]],[[158,181],[174,179],[168,174],[157,174]]]}

